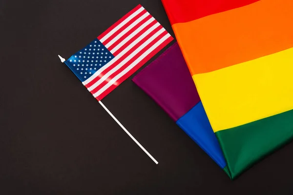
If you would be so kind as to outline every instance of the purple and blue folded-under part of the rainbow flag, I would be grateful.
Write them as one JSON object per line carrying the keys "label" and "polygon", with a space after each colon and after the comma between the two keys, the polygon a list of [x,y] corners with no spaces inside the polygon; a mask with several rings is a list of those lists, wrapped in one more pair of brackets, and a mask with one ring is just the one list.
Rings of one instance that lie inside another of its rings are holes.
{"label": "purple and blue folded-under part of the rainbow flag", "polygon": [[177,42],[132,80],[222,169],[226,167],[218,140],[210,127]]}

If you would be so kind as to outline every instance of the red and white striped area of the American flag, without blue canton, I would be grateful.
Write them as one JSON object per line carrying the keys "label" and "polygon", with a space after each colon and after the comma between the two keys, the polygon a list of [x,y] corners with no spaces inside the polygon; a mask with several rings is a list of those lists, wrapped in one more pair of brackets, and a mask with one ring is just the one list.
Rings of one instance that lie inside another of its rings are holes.
{"label": "red and white striped area of the American flag, without blue canton", "polygon": [[[105,32],[103,37],[99,37],[106,48],[109,49],[113,45],[110,52],[116,53],[114,59],[83,82],[95,98],[99,98],[111,86],[112,88],[113,85],[118,86],[121,80],[127,78],[124,75],[127,75],[128,71],[137,64],[141,66],[140,61],[170,38],[167,31],[143,7],[132,12],[124,20],[116,22],[114,24],[116,26],[112,30],[109,29],[109,32]],[[135,70],[137,69],[133,71]]]}

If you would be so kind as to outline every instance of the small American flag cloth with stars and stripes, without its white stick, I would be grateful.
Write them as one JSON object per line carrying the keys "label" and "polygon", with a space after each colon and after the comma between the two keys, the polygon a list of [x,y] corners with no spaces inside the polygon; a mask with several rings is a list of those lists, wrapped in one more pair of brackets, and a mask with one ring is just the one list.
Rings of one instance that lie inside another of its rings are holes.
{"label": "small American flag cloth with stars and stripes, without its white stick", "polygon": [[101,100],[171,40],[163,26],[138,5],[65,63]]}

